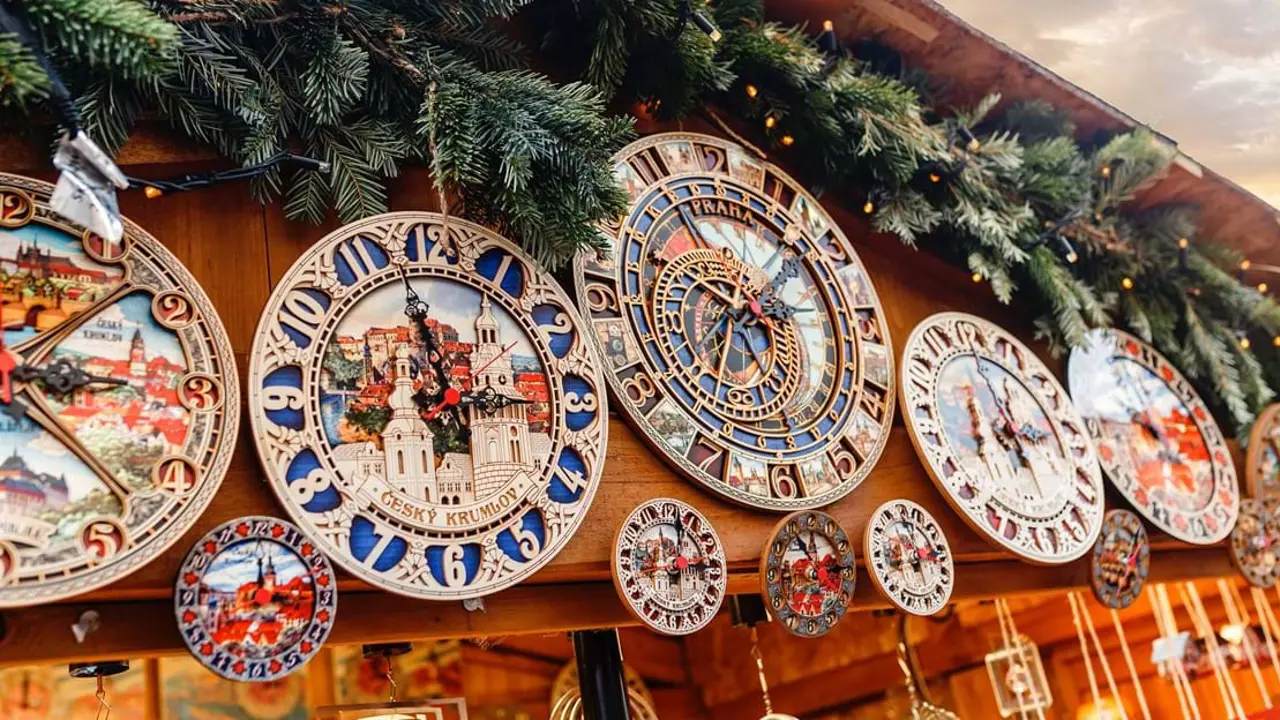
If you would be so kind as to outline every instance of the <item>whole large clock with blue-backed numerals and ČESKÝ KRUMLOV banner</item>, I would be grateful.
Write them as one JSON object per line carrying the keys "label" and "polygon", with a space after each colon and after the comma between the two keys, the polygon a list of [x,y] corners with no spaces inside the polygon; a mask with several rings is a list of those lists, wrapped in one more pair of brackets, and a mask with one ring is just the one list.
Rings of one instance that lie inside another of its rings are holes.
{"label": "whole large clock with blue-backed numerals and \u010cESK\u00dd KRUMLOV banner", "polygon": [[250,416],[271,488],[335,562],[457,600],[527,578],[581,523],[603,382],[568,299],[517,247],[393,213],[332,233],[280,281]]}

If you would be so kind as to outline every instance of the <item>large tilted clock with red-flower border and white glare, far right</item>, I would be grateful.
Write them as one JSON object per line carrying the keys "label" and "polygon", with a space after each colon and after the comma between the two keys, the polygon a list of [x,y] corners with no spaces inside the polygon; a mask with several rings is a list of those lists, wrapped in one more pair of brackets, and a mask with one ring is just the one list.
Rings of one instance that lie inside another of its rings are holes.
{"label": "large tilted clock with red-flower border and white glare, far right", "polygon": [[1231,532],[1240,496],[1226,441],[1204,402],[1149,345],[1093,331],[1068,364],[1111,483],[1161,530],[1197,544]]}

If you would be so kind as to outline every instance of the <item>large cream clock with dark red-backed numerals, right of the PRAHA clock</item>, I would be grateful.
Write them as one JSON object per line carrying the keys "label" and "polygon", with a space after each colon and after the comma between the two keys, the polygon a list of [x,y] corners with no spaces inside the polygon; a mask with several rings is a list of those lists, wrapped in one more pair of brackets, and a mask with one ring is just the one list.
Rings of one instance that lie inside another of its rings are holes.
{"label": "large cream clock with dark red-backed numerals, right of the PRAHA clock", "polygon": [[916,452],[970,527],[1030,562],[1088,552],[1103,511],[1093,445],[1018,338],[964,313],[925,318],[902,351],[901,392]]}

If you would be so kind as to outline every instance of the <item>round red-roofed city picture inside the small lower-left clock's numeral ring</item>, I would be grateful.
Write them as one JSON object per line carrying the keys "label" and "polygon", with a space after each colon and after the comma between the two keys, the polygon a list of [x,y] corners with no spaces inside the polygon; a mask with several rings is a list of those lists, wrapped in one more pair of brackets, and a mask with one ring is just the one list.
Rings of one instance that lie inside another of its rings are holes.
{"label": "round red-roofed city picture inside the small lower-left clock's numeral ring", "polygon": [[291,548],[248,539],[209,562],[197,589],[209,638],[236,657],[264,660],[298,643],[315,612],[311,571]]}

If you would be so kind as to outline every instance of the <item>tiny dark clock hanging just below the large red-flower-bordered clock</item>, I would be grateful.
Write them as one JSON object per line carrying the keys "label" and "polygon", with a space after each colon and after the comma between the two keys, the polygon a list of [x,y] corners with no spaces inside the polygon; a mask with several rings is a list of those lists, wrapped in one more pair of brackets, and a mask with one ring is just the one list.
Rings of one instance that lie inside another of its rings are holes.
{"label": "tiny dark clock hanging just below the large red-flower-bordered clock", "polygon": [[1110,510],[1089,556],[1093,597],[1112,610],[1138,600],[1151,571],[1151,543],[1142,520],[1128,510]]}

